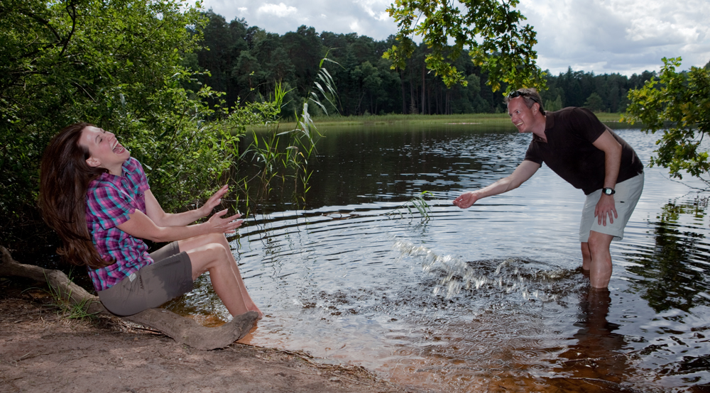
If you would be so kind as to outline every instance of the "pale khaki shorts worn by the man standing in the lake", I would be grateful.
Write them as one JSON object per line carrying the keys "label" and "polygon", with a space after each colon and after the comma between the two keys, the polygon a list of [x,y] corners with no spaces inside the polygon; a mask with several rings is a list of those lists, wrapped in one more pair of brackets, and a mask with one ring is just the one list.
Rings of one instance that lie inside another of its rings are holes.
{"label": "pale khaki shorts worn by the man standing in the lake", "polygon": [[601,189],[586,196],[584,209],[581,211],[581,223],[579,223],[579,241],[581,243],[586,243],[589,240],[590,231],[611,235],[614,237],[613,240],[623,239],[623,229],[626,228],[626,223],[628,223],[643,191],[643,173],[616,184],[615,191],[614,207],[618,217],[614,218],[613,223],[610,223],[607,216],[606,226],[600,224],[599,219],[594,216],[596,204],[601,198]]}

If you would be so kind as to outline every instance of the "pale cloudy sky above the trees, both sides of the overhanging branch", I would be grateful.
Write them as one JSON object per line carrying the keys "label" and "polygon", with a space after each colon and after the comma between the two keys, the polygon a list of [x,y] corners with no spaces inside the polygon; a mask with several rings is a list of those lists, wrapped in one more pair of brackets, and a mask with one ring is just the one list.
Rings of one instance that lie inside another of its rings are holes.
{"label": "pale cloudy sky above the trees, both sides of the overhanging branch", "polygon": [[[227,21],[273,33],[312,26],[319,33],[358,33],[383,40],[396,33],[385,9],[392,0],[203,0]],[[659,70],[662,57],[683,58],[682,69],[710,61],[710,0],[520,0],[537,31],[538,65],[552,74],[572,70],[630,75]]]}

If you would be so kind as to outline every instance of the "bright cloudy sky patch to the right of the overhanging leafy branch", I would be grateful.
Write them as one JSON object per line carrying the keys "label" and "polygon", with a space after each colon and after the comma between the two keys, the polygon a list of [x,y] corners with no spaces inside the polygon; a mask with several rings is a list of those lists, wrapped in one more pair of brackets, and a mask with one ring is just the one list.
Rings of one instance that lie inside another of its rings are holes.
{"label": "bright cloudy sky patch to the right of the overhanging leafy branch", "polygon": [[704,65],[710,53],[710,3],[665,0],[523,0],[537,31],[538,64],[552,74],[567,67],[632,74],[659,70],[661,57]]}

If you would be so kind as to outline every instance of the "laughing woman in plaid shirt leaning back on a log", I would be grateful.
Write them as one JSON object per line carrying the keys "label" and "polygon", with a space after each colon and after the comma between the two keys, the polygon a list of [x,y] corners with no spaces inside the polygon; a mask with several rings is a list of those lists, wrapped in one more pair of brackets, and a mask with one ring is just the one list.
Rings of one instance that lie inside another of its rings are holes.
{"label": "laughing woman in plaid shirt leaning back on a log", "polygon": [[[246,292],[225,233],[239,214],[219,211],[227,187],[191,211],[167,214],[153,196],[141,163],[113,133],[88,123],[62,129],[45,150],[40,205],[62,238],[58,253],[85,265],[102,304],[116,315],[136,314],[192,290],[209,271],[214,291],[232,316],[261,311]],[[141,239],[170,242],[148,253]]]}

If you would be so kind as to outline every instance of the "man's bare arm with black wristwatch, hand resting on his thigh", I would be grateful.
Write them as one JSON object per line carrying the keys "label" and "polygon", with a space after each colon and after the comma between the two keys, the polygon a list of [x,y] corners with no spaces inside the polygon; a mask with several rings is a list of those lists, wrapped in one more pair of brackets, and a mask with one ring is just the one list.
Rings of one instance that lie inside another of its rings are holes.
{"label": "man's bare arm with black wristwatch, hand resting on his thigh", "polygon": [[[614,139],[609,131],[604,131],[599,138],[596,138],[593,145],[604,152],[604,187],[613,189],[616,187],[616,178],[619,175],[619,167],[621,167],[621,144]],[[607,216],[610,223],[614,222],[614,218],[617,218],[618,214],[613,195],[601,194],[596,209],[594,209],[594,216],[604,226],[606,226]]]}

